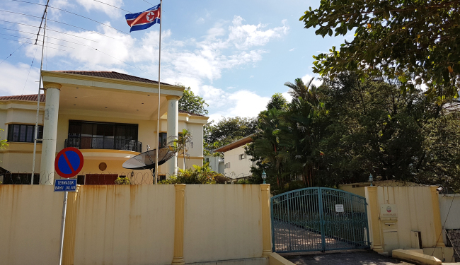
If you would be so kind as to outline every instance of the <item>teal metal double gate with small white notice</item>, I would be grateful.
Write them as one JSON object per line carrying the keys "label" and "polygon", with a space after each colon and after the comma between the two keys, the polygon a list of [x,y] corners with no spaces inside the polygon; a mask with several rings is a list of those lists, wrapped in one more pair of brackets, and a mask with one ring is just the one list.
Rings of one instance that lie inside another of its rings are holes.
{"label": "teal metal double gate with small white notice", "polygon": [[366,199],[330,188],[271,198],[273,252],[369,248]]}

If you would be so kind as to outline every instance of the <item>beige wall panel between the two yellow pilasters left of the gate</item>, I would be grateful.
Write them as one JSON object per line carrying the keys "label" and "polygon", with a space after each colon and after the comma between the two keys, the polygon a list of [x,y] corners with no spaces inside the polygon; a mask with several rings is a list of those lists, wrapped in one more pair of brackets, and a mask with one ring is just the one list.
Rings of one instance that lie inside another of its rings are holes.
{"label": "beige wall panel between the two yellow pilasters left of the gate", "polygon": [[260,257],[259,185],[187,185],[185,263]]}

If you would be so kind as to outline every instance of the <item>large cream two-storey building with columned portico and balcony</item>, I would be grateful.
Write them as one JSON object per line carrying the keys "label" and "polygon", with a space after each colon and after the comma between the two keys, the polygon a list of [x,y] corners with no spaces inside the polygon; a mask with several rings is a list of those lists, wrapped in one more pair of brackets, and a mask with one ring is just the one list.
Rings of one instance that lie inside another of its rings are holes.
{"label": "large cream two-storey building with columned portico and balcony", "polygon": [[[188,151],[187,167],[202,165],[203,126],[208,117],[178,110],[184,88],[161,83],[157,128],[156,81],[113,71],[42,71],[42,79],[45,95],[40,97],[38,129],[42,143],[37,144],[34,170],[40,174],[40,184],[53,184],[53,178],[59,178],[54,175],[54,158],[65,147],[79,148],[84,155],[80,184],[113,184],[121,175],[141,176],[139,184],[152,182],[149,170],[133,172],[122,163],[146,151],[147,145],[155,148],[157,130],[164,146],[168,136],[188,129],[195,145]],[[19,182],[30,182],[36,112],[37,95],[0,97],[0,128],[5,130],[0,137],[9,144],[0,151],[0,167]],[[183,167],[180,158],[159,167],[161,178]]]}

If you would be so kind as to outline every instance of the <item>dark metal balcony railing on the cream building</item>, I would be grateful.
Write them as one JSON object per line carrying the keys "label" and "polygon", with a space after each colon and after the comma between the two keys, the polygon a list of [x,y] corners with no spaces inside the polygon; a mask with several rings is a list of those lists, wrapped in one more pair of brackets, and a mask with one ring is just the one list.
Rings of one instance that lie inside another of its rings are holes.
{"label": "dark metal balcony railing on the cream building", "polygon": [[142,142],[127,139],[114,139],[112,137],[71,137],[66,139],[64,147],[142,152]]}

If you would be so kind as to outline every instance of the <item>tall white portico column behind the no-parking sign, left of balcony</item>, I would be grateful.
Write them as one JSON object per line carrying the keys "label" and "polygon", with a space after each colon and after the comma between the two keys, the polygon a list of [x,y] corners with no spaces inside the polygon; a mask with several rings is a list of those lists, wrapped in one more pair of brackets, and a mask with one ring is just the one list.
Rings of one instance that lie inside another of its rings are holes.
{"label": "tall white portico column behind the no-parking sign, left of balcony", "polygon": [[43,119],[42,159],[40,161],[40,184],[54,184],[54,158],[56,157],[57,116],[59,112],[58,83],[44,83],[45,117]]}

